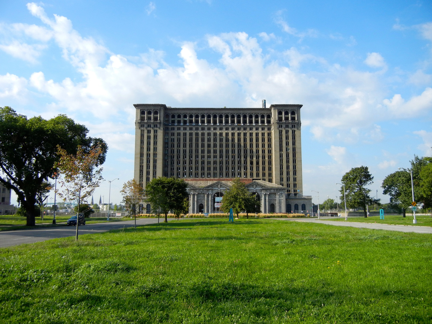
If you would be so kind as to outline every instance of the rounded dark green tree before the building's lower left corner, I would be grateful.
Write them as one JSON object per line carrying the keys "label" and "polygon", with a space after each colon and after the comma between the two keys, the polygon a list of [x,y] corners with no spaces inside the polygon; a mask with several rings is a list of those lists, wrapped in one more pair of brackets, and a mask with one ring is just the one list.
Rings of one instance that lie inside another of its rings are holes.
{"label": "rounded dark green tree before the building's lower left corner", "polygon": [[165,215],[168,222],[168,213],[184,210],[185,202],[189,196],[186,191],[187,184],[178,178],[155,178],[146,185],[146,199],[152,206],[152,210]]}

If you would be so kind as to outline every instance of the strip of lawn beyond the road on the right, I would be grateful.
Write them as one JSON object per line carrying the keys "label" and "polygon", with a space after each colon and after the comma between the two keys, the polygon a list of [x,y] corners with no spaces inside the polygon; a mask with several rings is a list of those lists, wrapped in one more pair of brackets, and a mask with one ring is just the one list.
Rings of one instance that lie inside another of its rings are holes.
{"label": "strip of lawn beyond the road on the right", "polygon": [[[384,219],[379,219],[379,216],[369,216],[364,218],[362,216],[348,217],[348,222],[363,222],[363,223],[380,223],[380,224],[394,224],[394,225],[416,225],[416,226],[432,226],[432,217],[430,215],[416,215],[417,223],[413,224],[413,216],[407,215],[407,217],[402,217],[402,215],[384,215]],[[332,217],[325,220],[337,220],[344,221],[345,217]]]}

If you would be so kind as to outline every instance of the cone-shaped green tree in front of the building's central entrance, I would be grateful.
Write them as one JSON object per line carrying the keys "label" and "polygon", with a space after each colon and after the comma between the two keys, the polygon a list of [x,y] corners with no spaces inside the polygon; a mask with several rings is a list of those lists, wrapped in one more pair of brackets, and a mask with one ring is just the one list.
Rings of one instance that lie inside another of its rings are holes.
{"label": "cone-shaped green tree in front of the building's central entrance", "polygon": [[248,191],[248,188],[246,188],[246,185],[240,179],[235,178],[232,181],[231,187],[223,195],[220,209],[224,213],[229,213],[229,210],[232,208],[232,212],[238,217],[238,214],[242,211],[252,212],[254,210],[252,209],[252,203],[255,208],[254,195]]}

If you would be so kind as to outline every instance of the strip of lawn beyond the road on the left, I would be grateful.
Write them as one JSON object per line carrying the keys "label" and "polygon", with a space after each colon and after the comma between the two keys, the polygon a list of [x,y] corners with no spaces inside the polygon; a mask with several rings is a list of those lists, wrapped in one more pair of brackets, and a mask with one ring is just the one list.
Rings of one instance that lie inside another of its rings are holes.
{"label": "strip of lawn beyond the road on the left", "polygon": [[[55,216],[56,222],[66,222],[68,219],[70,219],[71,215],[61,215],[61,216]],[[123,218],[110,218],[110,222],[117,222],[120,220],[124,220]],[[53,222],[53,216],[45,216],[42,220],[41,217],[36,217],[36,226],[35,227],[41,227],[41,226],[51,226]],[[16,216],[16,215],[0,215],[0,231],[10,231],[14,229],[25,229],[26,219],[25,217]],[[105,217],[91,217],[86,218],[86,223],[92,224],[92,223],[100,223],[100,222],[107,222],[107,219]],[[58,224],[59,226],[64,226],[64,224]],[[55,226],[55,225],[54,225]]]}

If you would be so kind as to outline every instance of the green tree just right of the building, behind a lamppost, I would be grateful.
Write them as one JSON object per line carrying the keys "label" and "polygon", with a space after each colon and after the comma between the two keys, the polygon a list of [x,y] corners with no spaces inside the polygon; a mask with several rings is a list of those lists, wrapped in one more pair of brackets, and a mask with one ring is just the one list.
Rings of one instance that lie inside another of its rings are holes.
{"label": "green tree just right of the building, behind a lamppost", "polygon": [[[373,178],[367,166],[360,166],[346,172],[341,180],[342,184],[345,184],[346,206],[348,208],[362,207],[365,217],[368,217],[366,205],[379,202],[369,196],[371,190],[366,188],[373,183]],[[343,202],[343,187],[340,188],[340,193],[340,200]]]}

